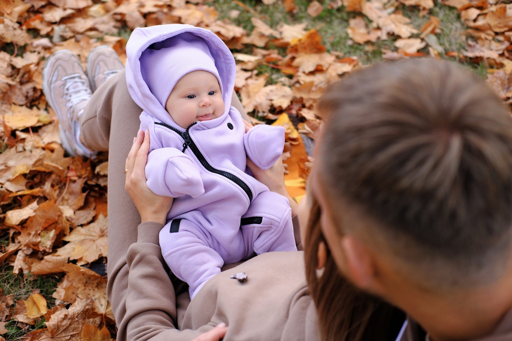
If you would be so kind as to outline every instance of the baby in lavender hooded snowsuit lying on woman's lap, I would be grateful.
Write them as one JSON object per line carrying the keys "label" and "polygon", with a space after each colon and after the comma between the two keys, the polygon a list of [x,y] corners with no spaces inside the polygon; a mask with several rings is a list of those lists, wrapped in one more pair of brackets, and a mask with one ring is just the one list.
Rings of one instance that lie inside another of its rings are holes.
{"label": "baby in lavender hooded snowsuit lying on woman's lap", "polygon": [[150,132],[147,185],[175,197],[160,231],[163,257],[194,297],[224,264],[253,253],[296,250],[288,200],[246,171],[283,153],[284,129],[246,132],[229,105],[235,62],[214,33],[190,25],[135,29],[126,81]]}

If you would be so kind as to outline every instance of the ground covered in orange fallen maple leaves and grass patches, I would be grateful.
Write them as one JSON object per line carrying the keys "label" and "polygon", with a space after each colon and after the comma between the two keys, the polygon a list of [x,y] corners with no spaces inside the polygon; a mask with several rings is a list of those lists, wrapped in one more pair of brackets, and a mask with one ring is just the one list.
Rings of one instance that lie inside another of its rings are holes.
{"label": "ground covered in orange fallen maple leaves and grass patches", "polygon": [[[0,341],[111,340],[106,300],[108,154],[60,146],[41,92],[45,60],[100,45],[121,59],[136,27],[183,23],[219,35],[237,60],[253,124],[286,127],[296,200],[326,86],[377,60],[450,59],[512,102],[512,4],[501,0],[0,0]],[[306,146],[306,147],[305,147]]]}

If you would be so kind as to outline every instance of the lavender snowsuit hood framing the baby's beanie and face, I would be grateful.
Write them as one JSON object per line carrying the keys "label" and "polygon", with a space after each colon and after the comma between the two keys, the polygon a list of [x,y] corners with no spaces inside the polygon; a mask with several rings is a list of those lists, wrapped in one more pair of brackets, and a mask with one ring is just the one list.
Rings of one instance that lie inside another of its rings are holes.
{"label": "lavender snowsuit hood framing the baby's beanie and face", "polygon": [[[151,112],[152,115],[161,122],[174,126],[180,131],[184,131],[185,129],[178,126],[172,117],[170,117],[170,115],[165,111],[164,106],[162,106],[161,101],[152,94],[148,84],[144,80],[143,71],[141,70],[141,56],[143,52],[152,45],[152,47],[156,46],[157,48],[163,46],[171,47],[174,39],[169,38],[182,35],[182,37],[186,39],[190,34],[204,40],[212,59],[215,61],[215,67],[217,68],[218,76],[221,80],[221,89],[223,90],[222,99],[224,100],[224,114],[221,115],[222,117],[227,114],[231,105],[236,67],[231,51],[229,51],[224,42],[215,33],[191,25],[159,25],[136,28],[132,32],[132,35],[126,44],[126,83],[133,100],[144,111]],[[199,67],[197,70],[204,69]],[[184,74],[181,74],[177,77],[169,75],[172,87],[174,87],[174,84],[176,84],[179,78],[183,75]],[[222,119],[218,117],[201,123],[204,124],[206,128],[210,128],[218,125],[221,121]]]}

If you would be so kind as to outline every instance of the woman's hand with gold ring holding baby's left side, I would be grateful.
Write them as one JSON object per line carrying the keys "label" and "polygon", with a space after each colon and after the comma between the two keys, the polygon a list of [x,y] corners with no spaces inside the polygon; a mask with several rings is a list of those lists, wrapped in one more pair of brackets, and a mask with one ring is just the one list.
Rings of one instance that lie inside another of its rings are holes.
{"label": "woman's hand with gold ring holding baby's left side", "polygon": [[173,205],[173,198],[154,194],[146,185],[144,167],[150,150],[150,134],[139,130],[126,158],[126,180],[124,187],[139,211],[141,222],[165,224],[167,212]]}

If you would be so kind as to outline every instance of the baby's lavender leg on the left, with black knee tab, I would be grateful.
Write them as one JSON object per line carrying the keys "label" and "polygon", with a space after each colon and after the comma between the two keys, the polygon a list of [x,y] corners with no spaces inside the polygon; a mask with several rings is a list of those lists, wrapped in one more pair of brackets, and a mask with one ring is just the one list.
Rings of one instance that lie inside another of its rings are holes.
{"label": "baby's lavender leg on the left, with black knee tab", "polygon": [[220,254],[208,245],[205,233],[186,219],[174,219],[160,231],[163,258],[176,277],[188,284],[191,298],[224,265]]}

